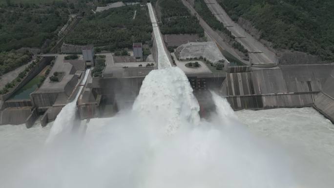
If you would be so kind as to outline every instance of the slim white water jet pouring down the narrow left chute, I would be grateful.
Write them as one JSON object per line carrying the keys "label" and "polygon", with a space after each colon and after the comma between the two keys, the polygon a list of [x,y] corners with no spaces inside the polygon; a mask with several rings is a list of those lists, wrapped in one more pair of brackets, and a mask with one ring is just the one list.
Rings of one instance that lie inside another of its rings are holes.
{"label": "slim white water jet pouring down the narrow left chute", "polygon": [[87,81],[89,71],[90,68],[86,69],[84,78],[80,83],[75,99],[72,102],[66,104],[58,114],[53,126],[51,127],[50,134],[46,139],[46,143],[52,142],[59,134],[69,134],[72,131],[74,120],[76,118],[77,100],[81,90],[84,88],[83,84],[85,84]]}

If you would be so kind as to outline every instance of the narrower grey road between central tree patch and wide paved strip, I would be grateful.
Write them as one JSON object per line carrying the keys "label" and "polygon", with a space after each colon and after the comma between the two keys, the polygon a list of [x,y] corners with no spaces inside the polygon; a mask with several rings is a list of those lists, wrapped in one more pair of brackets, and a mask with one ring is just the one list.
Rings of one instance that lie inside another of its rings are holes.
{"label": "narrower grey road between central tree patch and wide paved strip", "polygon": [[187,0],[182,0],[183,4],[188,8],[190,13],[192,15],[197,16],[197,19],[199,20],[200,25],[203,27],[203,29],[206,31],[206,33],[209,35],[209,37],[216,42],[216,44],[221,47],[222,49],[229,52],[231,55],[233,55],[235,58],[240,60],[242,63],[249,64],[249,62],[243,60],[234,50],[234,48],[230,47],[219,35],[217,32],[215,32],[202,18],[198,17],[198,13],[196,10],[189,4]]}

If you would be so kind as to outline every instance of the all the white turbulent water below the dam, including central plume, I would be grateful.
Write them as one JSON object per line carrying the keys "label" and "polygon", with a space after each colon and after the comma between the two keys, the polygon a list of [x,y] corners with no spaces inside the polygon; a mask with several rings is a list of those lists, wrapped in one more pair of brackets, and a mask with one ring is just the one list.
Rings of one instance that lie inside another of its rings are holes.
{"label": "all the white turbulent water below the dam, including central plume", "polygon": [[70,103],[44,128],[0,126],[0,187],[333,187],[334,125],[315,110],[235,113],[212,94],[216,113],[201,120],[186,75],[168,67],[115,117],[75,122]]}

